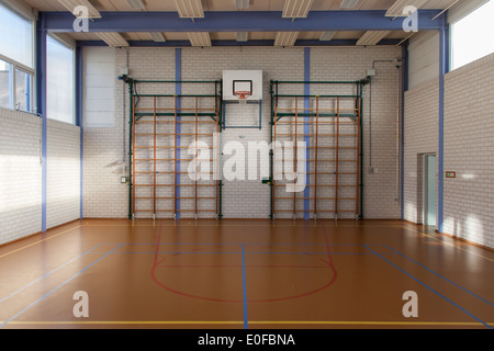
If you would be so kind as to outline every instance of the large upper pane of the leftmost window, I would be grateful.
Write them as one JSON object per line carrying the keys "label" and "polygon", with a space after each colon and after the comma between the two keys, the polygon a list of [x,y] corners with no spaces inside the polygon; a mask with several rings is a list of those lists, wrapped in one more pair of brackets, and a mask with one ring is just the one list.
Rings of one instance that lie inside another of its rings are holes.
{"label": "large upper pane of the leftmost window", "polygon": [[0,4],[0,54],[33,67],[33,23]]}

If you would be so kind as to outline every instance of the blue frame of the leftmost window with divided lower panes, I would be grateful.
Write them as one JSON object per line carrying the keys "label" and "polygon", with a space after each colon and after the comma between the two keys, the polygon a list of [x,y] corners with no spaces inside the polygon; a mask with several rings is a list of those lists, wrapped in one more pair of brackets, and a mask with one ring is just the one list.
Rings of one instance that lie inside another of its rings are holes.
{"label": "blue frame of the leftmost window with divided lower panes", "polygon": [[[29,21],[31,23],[31,33],[32,33],[32,41],[31,41],[31,45],[32,45],[32,50],[31,50],[31,61],[33,63],[33,68],[25,66],[24,64],[21,64],[8,56],[4,56],[0,53],[0,59],[2,61],[5,61],[7,64],[11,65],[12,69],[9,72],[9,110],[15,110],[15,111],[21,111],[21,112],[27,112],[27,113],[33,113],[34,109],[33,106],[35,106],[35,97],[36,97],[36,41],[35,41],[35,35],[36,35],[36,25],[35,22],[32,19],[26,18],[24,14],[15,11],[14,9],[5,5],[3,2],[0,1],[0,5],[5,8],[8,11],[23,18],[24,20]],[[15,109],[15,101],[16,99],[16,82],[15,82],[15,71],[20,70],[26,75],[30,76],[30,95],[29,95],[29,103],[27,105],[31,107],[31,111],[23,111],[23,110],[16,110]]]}

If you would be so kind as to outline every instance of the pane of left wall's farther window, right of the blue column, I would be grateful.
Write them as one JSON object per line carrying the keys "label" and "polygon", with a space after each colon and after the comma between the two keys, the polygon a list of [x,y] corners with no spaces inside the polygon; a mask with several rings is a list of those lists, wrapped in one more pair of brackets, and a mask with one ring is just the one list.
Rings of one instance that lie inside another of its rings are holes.
{"label": "pane of left wall's farther window, right of the blue column", "polygon": [[74,49],[47,38],[47,116],[74,124]]}

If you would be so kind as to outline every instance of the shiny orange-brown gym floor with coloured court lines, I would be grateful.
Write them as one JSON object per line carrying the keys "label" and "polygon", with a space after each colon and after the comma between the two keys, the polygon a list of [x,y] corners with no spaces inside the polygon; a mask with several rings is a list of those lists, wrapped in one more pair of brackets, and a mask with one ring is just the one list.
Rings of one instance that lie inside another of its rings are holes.
{"label": "shiny orange-brown gym floor with coloured court lines", "polygon": [[493,328],[494,252],[426,230],[77,220],[0,247],[0,328]]}

